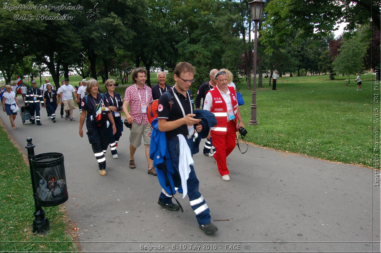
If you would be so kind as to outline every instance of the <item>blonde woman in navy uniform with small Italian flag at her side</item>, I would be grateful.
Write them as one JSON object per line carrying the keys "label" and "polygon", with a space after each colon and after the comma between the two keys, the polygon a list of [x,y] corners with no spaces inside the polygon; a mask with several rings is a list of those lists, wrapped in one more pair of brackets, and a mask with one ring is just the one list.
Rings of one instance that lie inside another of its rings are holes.
{"label": "blonde woman in navy uniform with small Italian flag at her side", "polygon": [[[82,99],[82,113],[79,122],[79,136],[83,137],[83,123],[86,118],[87,137],[91,147],[93,148],[94,156],[97,159],[99,166],[99,174],[106,176],[106,153],[107,146],[109,145],[109,135],[107,134],[106,123],[98,124],[96,120],[96,107],[103,100],[104,106],[109,107],[109,102],[105,95],[99,94],[99,84],[95,79],[90,79],[86,86],[86,96]],[[87,97],[87,98],[86,98]],[[87,115],[86,115],[87,113]],[[115,134],[117,129],[115,127],[114,118],[109,113],[109,122],[112,124],[112,133]]]}

